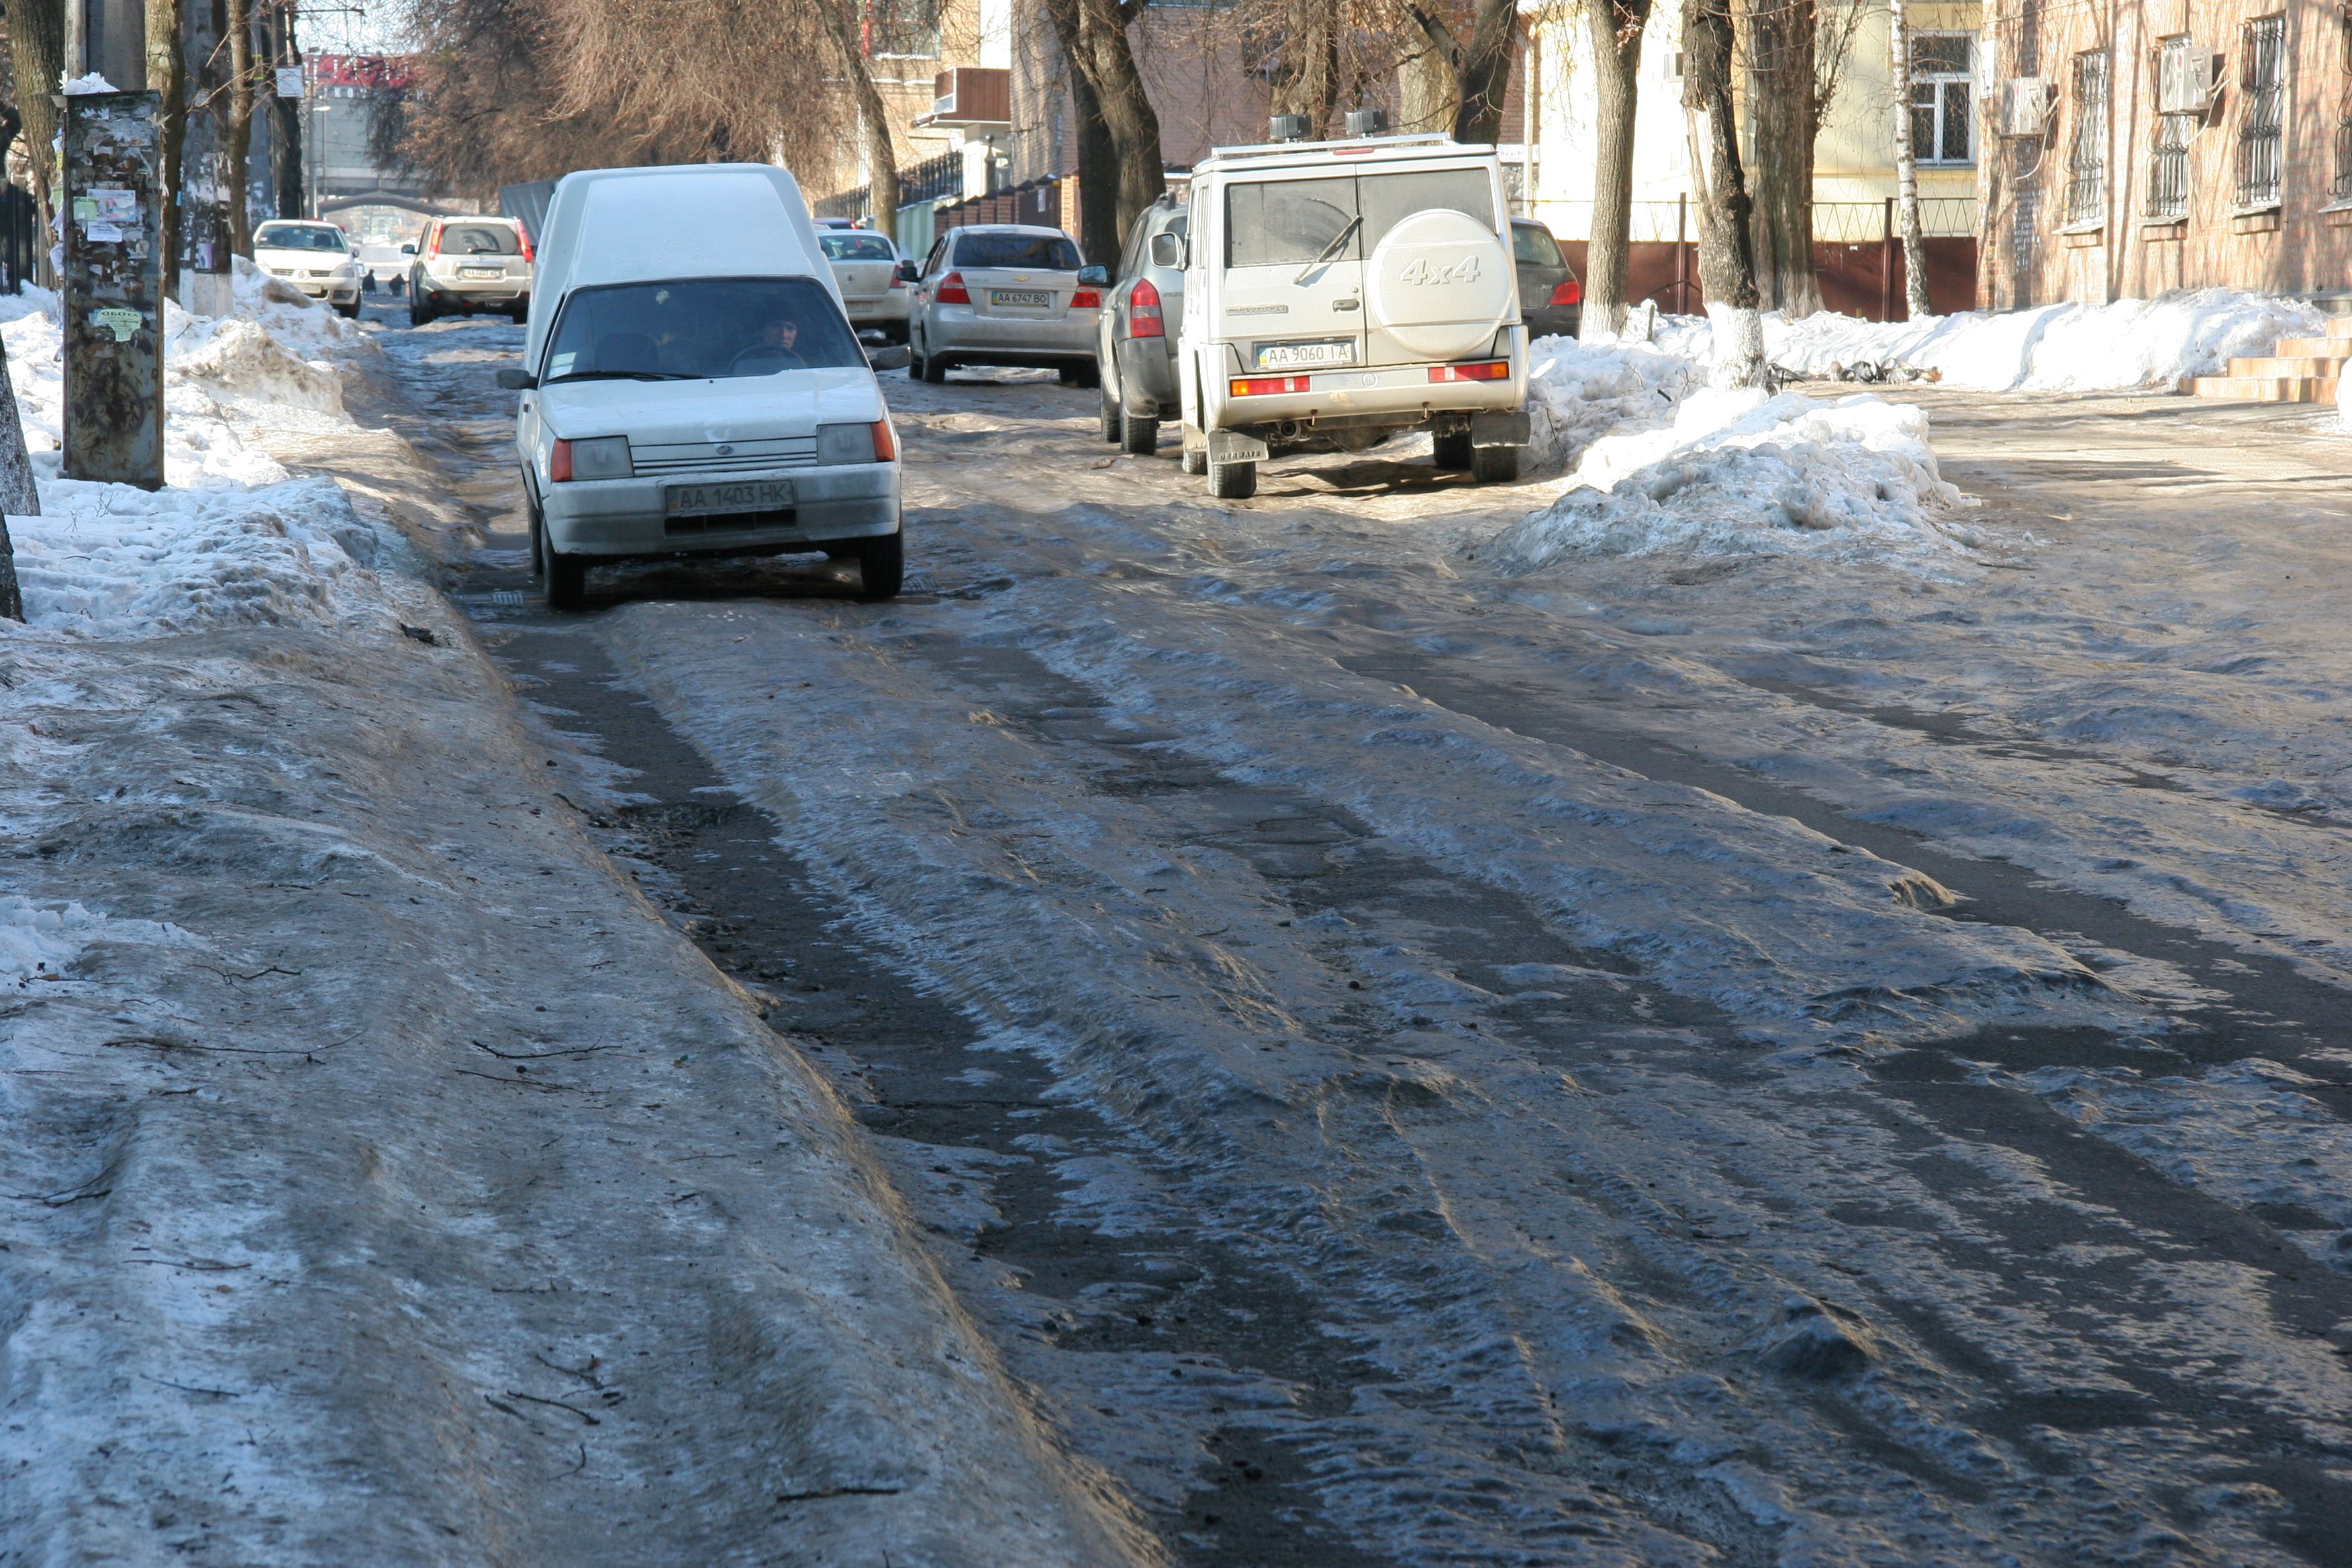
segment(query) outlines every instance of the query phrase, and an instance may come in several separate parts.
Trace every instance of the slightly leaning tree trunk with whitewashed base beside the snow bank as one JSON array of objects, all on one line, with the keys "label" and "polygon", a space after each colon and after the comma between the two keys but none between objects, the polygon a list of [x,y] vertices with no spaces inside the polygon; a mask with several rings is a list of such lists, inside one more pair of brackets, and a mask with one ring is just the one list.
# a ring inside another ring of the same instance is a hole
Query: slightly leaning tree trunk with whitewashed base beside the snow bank
[{"label": "slightly leaning tree trunk with whitewashed base beside the snow bank", "polygon": [[1757,256],[1750,237],[1755,202],[1740,167],[1731,61],[1738,38],[1733,0],[1682,0],[1682,106],[1691,120],[1691,172],[1698,195],[1698,289],[1715,322],[1715,383],[1764,386],[1764,324],[1757,320]]}]

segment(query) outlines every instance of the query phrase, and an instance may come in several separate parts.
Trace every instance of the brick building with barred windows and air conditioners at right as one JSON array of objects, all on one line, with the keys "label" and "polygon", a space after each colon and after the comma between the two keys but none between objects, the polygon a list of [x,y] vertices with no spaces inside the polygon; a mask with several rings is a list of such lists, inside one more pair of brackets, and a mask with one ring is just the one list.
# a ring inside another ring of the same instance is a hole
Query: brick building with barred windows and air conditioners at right
[{"label": "brick building with barred windows and air conditioners at right", "polygon": [[2343,0],[1987,0],[1978,303],[2352,308]]}]

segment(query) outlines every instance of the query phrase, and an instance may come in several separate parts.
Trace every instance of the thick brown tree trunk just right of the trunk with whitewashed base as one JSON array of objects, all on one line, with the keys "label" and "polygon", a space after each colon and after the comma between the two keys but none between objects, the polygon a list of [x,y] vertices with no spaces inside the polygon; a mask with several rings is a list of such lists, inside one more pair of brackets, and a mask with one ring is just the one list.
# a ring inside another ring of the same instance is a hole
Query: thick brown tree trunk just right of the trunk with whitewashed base
[{"label": "thick brown tree trunk just right of the trunk with whitewashed base", "polygon": [[1748,9],[1757,292],[1764,308],[1790,317],[1820,310],[1820,277],[1813,273],[1818,33],[1813,0],[1771,0]]}]

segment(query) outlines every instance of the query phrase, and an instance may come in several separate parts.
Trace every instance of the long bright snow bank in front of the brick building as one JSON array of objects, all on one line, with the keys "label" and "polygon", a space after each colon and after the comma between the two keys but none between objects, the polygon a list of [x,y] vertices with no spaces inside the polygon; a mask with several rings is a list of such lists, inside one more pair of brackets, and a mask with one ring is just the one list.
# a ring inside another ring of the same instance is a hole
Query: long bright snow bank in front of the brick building
[{"label": "long bright snow bank in front of the brick building", "polygon": [[1919,322],[1851,315],[1764,317],[1773,364],[1837,376],[1867,364],[1933,371],[1945,386],[2009,393],[2176,388],[2218,376],[2237,355],[2267,355],[2279,339],[2324,331],[2314,308],[2244,289],[2183,289],[2110,306],[1969,310]]}]

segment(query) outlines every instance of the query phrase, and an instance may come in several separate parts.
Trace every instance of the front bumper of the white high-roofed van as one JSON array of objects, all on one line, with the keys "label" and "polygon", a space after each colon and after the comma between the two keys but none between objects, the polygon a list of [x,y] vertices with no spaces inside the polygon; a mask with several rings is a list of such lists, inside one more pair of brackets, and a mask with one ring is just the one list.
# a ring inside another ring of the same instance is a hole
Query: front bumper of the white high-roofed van
[{"label": "front bumper of the white high-roofed van", "polygon": [[[898,531],[898,465],[779,468],[774,473],[668,473],[652,480],[539,482],[548,541],[564,555],[675,555],[680,550],[748,552],[821,545]],[[746,517],[668,517],[670,484],[741,484],[788,480],[793,510]]]}]

